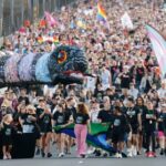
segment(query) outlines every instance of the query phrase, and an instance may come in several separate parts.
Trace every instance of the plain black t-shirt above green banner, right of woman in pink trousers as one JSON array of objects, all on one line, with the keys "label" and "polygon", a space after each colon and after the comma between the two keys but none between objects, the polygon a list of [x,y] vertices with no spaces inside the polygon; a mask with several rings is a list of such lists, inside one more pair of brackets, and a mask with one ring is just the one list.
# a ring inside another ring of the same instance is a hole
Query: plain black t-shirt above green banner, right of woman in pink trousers
[{"label": "plain black t-shirt above green banner, right of woman in pink trousers", "polygon": [[101,120],[102,123],[113,122],[113,115],[111,111],[100,111],[97,118]]}]

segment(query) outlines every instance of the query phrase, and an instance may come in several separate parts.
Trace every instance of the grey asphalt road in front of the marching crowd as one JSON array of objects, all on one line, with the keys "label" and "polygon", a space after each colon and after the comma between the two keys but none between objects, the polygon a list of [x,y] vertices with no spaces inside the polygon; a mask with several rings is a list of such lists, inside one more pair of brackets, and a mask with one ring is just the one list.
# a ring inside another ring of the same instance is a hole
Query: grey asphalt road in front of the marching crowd
[{"label": "grey asphalt road in front of the marching crowd", "polygon": [[166,158],[51,158],[0,160],[0,166],[165,166]]}]

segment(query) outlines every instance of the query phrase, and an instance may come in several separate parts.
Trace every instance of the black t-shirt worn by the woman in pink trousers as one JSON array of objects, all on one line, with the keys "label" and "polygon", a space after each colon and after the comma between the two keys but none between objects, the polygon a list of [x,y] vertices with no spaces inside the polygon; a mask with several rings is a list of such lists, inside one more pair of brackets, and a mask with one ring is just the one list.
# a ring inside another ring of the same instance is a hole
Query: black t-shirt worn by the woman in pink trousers
[{"label": "black t-shirt worn by the woman in pink trousers", "polygon": [[90,120],[89,114],[76,113],[74,117],[75,124],[87,124]]}]

